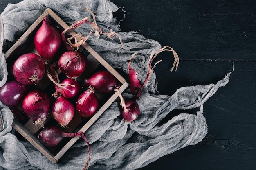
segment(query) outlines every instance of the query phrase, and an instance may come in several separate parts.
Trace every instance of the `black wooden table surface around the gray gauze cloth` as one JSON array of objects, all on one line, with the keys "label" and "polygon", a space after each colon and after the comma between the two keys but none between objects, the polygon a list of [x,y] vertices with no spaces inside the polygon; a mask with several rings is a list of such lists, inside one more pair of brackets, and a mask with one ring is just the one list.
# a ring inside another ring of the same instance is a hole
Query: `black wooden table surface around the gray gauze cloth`
[{"label": "black wooden table surface around the gray gauze cloth", "polygon": [[[141,170],[255,169],[256,2],[254,0],[111,0],[127,12],[121,31],[139,31],[175,49],[155,68],[160,94],[183,86],[216,83],[233,69],[230,82],[204,104],[208,134],[202,142],[159,158]],[[8,3],[1,0],[0,12]],[[115,14],[117,19],[121,17]],[[166,120],[179,113],[175,110]]]}]

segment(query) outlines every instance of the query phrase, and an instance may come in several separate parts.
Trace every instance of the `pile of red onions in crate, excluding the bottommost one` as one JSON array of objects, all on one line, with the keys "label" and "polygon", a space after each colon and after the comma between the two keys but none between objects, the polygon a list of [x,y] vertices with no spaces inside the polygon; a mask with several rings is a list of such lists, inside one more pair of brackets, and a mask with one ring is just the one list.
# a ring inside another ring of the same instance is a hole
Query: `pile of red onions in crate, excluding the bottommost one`
[{"label": "pile of red onions in crate, excluding the bottommost one", "polygon": [[[113,92],[119,84],[106,70],[81,81],[87,58],[78,51],[65,49],[62,43],[60,31],[52,26],[49,17],[44,17],[34,36],[38,53],[25,53],[14,61],[13,74],[9,75],[13,79],[0,88],[0,100],[19,120],[29,118],[44,128],[45,120],[51,114],[62,128],[67,128],[75,113],[79,113],[82,120],[92,117],[99,106],[97,93]],[[57,69],[62,77],[57,74]],[[37,88],[45,78],[54,83],[54,94]]]}]

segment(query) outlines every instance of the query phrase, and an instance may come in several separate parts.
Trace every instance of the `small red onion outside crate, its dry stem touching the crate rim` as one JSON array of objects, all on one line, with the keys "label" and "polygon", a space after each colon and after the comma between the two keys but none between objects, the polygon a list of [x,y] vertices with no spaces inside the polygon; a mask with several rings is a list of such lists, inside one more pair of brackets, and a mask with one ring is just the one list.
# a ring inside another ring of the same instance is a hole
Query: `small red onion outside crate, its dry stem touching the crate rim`
[{"label": "small red onion outside crate, its dry stem touching the crate rim", "polygon": [[121,114],[124,118],[124,121],[131,122],[139,116],[139,105],[136,100],[124,100],[123,96],[119,92],[119,87],[115,88],[115,91],[118,93],[121,100]]}]

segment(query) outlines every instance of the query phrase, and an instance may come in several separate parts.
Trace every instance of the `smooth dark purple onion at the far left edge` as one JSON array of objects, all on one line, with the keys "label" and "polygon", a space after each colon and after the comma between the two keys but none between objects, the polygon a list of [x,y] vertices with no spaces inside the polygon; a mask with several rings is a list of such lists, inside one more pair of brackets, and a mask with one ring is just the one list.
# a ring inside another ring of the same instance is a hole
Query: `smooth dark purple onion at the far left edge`
[{"label": "smooth dark purple onion at the far left edge", "polygon": [[7,81],[0,87],[0,100],[4,105],[17,105],[26,95],[27,86],[17,81]]}]

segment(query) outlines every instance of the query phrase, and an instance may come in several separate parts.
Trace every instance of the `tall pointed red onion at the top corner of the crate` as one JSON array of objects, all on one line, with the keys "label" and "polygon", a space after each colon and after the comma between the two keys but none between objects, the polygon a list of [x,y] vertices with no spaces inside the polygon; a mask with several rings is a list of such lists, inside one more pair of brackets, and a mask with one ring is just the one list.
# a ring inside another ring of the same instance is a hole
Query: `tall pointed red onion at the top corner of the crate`
[{"label": "tall pointed red onion at the top corner of the crate", "polygon": [[45,60],[52,59],[61,47],[61,33],[50,25],[49,17],[43,18],[42,26],[36,31],[34,44],[38,54]]}]

